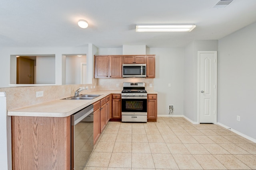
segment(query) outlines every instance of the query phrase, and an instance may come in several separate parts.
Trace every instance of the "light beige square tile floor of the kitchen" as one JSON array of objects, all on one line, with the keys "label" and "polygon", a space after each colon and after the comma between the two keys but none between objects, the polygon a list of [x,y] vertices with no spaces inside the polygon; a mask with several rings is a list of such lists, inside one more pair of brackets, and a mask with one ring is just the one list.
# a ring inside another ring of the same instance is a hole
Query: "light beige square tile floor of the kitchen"
[{"label": "light beige square tile floor of the kitchen", "polygon": [[84,170],[256,169],[256,143],[214,124],[182,117],[108,122]]}]

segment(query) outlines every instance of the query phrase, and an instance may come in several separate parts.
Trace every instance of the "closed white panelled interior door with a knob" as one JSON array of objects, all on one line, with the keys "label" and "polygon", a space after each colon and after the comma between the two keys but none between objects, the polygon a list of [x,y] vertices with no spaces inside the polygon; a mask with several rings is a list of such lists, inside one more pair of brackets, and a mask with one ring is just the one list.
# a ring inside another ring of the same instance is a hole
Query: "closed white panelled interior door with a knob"
[{"label": "closed white panelled interior door with a knob", "polygon": [[216,123],[216,51],[198,51],[199,123]]}]

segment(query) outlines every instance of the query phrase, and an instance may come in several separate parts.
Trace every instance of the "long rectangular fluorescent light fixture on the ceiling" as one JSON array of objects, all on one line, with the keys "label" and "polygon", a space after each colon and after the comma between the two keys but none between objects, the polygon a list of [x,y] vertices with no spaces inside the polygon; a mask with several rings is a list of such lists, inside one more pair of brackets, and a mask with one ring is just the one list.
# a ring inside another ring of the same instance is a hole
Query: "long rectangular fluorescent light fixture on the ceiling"
[{"label": "long rectangular fluorescent light fixture on the ceiling", "polygon": [[136,32],[190,32],[195,24],[136,25]]}]

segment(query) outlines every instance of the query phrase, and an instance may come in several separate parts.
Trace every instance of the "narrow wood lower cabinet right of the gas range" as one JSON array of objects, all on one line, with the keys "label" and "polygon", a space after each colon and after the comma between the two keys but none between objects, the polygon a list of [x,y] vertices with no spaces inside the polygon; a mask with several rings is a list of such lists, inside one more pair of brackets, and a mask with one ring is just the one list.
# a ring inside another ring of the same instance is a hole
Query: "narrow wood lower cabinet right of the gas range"
[{"label": "narrow wood lower cabinet right of the gas range", "polygon": [[148,94],[148,121],[157,120],[157,94]]}]

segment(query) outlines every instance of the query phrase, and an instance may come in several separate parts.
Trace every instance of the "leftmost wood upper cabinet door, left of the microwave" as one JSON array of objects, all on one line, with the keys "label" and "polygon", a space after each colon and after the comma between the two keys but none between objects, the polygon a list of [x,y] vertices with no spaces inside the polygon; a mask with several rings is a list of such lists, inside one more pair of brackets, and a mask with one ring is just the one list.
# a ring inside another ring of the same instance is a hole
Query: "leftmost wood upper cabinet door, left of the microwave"
[{"label": "leftmost wood upper cabinet door, left of the microwave", "polygon": [[94,56],[94,78],[108,77],[108,56]]}]

